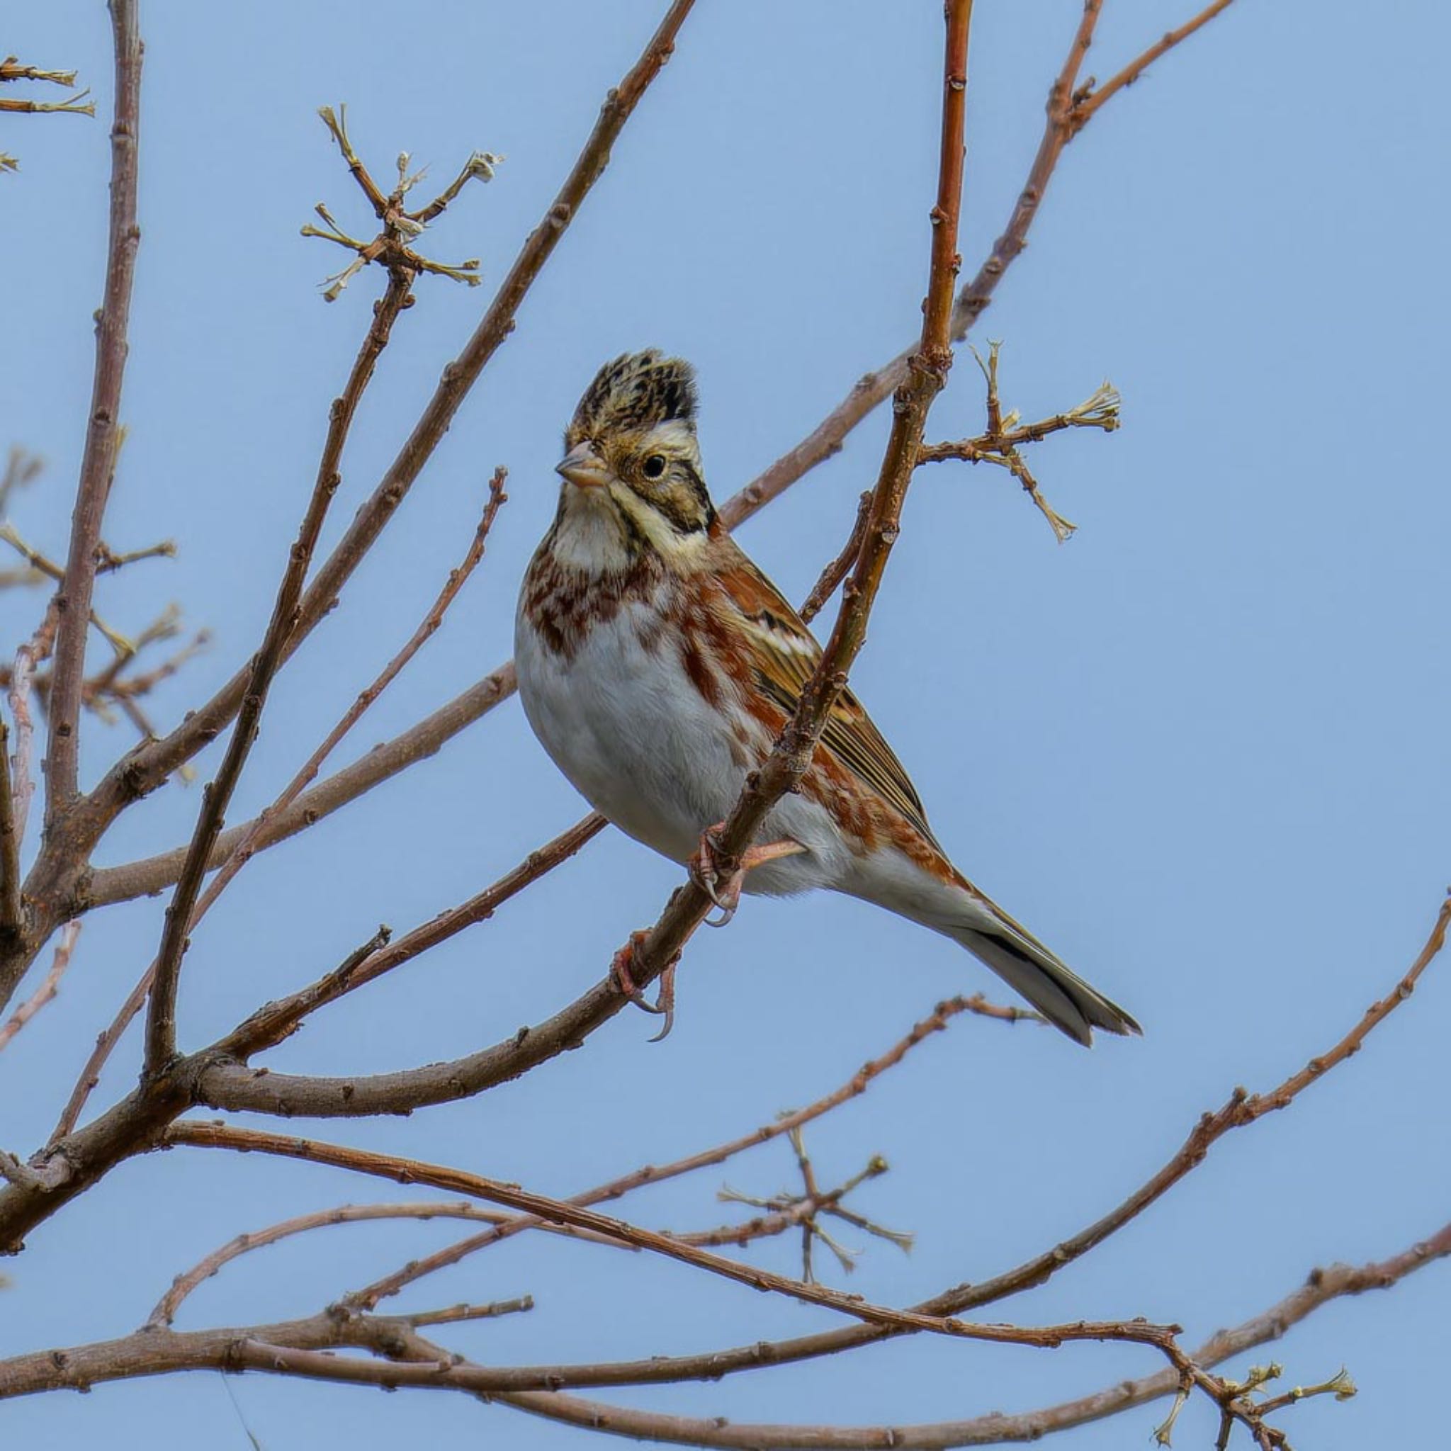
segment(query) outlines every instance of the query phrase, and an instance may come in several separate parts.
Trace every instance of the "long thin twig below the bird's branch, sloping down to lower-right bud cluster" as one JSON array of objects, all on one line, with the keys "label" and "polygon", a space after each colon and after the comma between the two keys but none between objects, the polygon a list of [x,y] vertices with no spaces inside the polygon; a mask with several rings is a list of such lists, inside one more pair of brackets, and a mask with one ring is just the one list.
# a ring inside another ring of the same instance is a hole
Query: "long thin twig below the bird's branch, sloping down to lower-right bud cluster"
[{"label": "long thin twig below the bird's branch, sloping down to lower-right bud cluster", "polygon": [[324,1143],[318,1139],[296,1139],[281,1133],[267,1133],[258,1129],[237,1129],[225,1123],[173,1123],[158,1140],[163,1148],[232,1149],[241,1154],[276,1154],[281,1158],[306,1159],[311,1164],[328,1164],[334,1168],[370,1174],[379,1178],[406,1184],[428,1184],[445,1193],[463,1193],[485,1199],[493,1204],[537,1214],[557,1225],[569,1225],[593,1235],[604,1235],[637,1249],[649,1249],[666,1259],[678,1259],[696,1270],[705,1270],[724,1280],[755,1290],[770,1290],[807,1304],[818,1304],[837,1310],[868,1325],[895,1331],[926,1331],[956,1339],[991,1341],[1004,1345],[1035,1345],[1055,1349],[1071,1341],[1126,1341],[1136,1345],[1151,1345],[1165,1354],[1174,1352],[1175,1326],[1151,1325],[1146,1320],[1078,1320],[1071,1325],[979,1325],[952,1316],[924,1315],[918,1310],[895,1310],[874,1304],[860,1296],[843,1294],[824,1286],[805,1284],[786,1275],[773,1274],[755,1265],[740,1264],[721,1255],[712,1255],[682,1239],[641,1229],[592,1209],[580,1209],[564,1200],[550,1199],[503,1184],[482,1174],[469,1174],[444,1164],[425,1164],[390,1154],[374,1154],[347,1145]]}]

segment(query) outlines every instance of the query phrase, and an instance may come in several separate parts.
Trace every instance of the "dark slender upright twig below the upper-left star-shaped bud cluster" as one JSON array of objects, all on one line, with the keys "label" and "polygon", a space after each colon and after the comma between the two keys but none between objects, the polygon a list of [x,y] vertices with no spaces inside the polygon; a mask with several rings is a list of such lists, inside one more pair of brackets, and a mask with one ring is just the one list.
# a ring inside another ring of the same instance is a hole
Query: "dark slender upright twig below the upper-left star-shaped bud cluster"
[{"label": "dark slender upright twig below the upper-left star-shaped bud cluster", "polygon": [[177,879],[171,905],[167,907],[165,927],[152,971],[151,1007],[147,1014],[145,1075],[157,1074],[176,1056],[177,981],[181,974],[181,958],[187,949],[187,933],[192,930],[192,913],[206,876],[212,849],[222,834],[226,807],[237,789],[237,782],[241,779],[252,741],[257,739],[258,721],[267,704],[267,691],[273,676],[286,660],[287,641],[297,625],[308,566],[312,563],[312,553],[316,548],[318,535],[322,533],[328,506],[342,482],[342,476],[338,473],[342,445],[347,443],[358,400],[373,377],[379,355],[387,347],[393,322],[408,305],[412,281],[414,274],[406,268],[389,273],[387,287],[374,309],[373,322],[353,363],[347,385],[329,412],[328,437],[318,463],[318,477],[312,488],[312,496],[308,501],[297,530],[297,540],[289,551],[287,566],[277,586],[271,620],[252,659],[247,692],[237,712],[232,737],[226,743],[226,755],[222,757],[216,778],[202,792],[202,810],[197,814],[192,846],[187,849],[187,859]]}]

